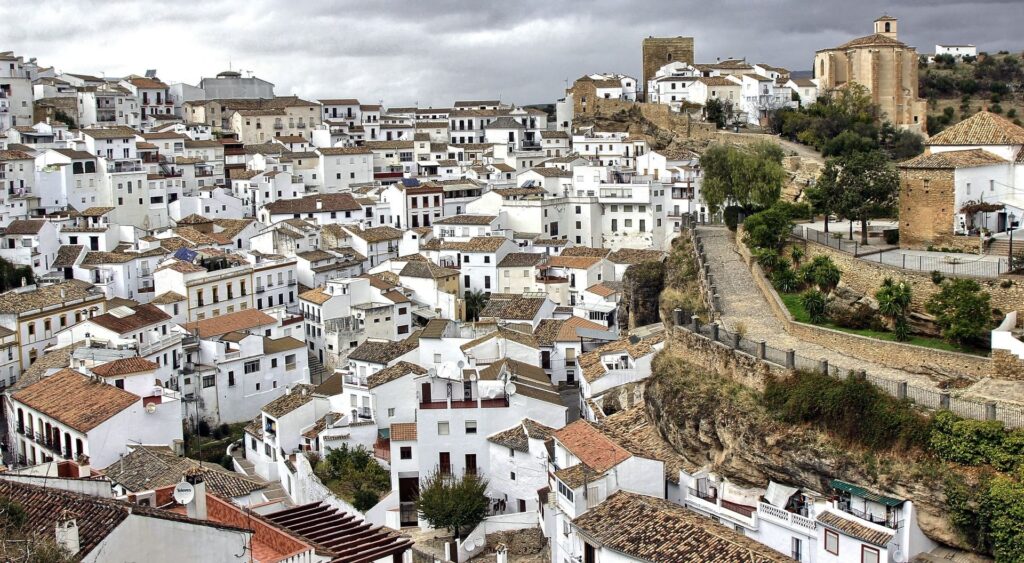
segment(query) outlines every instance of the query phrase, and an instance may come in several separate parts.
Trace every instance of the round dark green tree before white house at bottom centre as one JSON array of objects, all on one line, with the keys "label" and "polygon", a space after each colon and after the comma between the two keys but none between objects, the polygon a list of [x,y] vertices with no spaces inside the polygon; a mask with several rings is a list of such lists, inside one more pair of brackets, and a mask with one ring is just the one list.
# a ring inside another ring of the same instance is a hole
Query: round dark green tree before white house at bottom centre
[{"label": "round dark green tree before white house at bottom centre", "polygon": [[487,480],[477,475],[454,477],[435,471],[423,480],[416,510],[435,528],[465,537],[487,515]]}]

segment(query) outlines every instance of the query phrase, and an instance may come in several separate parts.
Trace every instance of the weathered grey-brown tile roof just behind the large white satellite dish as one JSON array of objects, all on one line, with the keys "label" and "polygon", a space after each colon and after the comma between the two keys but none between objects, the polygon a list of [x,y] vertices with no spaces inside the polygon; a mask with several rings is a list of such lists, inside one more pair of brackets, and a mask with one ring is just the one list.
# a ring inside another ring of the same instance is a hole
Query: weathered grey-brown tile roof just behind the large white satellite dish
[{"label": "weathered grey-brown tile roof just behind the large white satellite dish", "polygon": [[266,488],[266,483],[228,471],[216,464],[179,458],[167,446],[134,446],[119,462],[102,470],[115,483],[131,492],[173,487],[186,471],[200,471],[207,490],[228,499]]}]

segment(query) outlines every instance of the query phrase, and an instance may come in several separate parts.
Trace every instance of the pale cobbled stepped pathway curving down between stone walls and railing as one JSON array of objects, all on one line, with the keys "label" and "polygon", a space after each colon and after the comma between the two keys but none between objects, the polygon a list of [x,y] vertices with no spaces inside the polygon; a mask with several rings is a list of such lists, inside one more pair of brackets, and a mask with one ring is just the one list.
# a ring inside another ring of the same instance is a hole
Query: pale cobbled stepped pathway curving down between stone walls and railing
[{"label": "pale cobbled stepped pathway curving down between stone walls and railing", "polygon": [[734,235],[724,227],[698,227],[697,235],[703,241],[708,266],[715,276],[722,304],[722,322],[729,331],[742,326],[746,338],[764,340],[769,346],[783,350],[793,348],[806,358],[827,358],[830,365],[842,370],[864,370],[886,379],[906,380],[919,387],[935,387],[926,376],[865,361],[790,335],[754,284],[754,274],[736,250]]}]

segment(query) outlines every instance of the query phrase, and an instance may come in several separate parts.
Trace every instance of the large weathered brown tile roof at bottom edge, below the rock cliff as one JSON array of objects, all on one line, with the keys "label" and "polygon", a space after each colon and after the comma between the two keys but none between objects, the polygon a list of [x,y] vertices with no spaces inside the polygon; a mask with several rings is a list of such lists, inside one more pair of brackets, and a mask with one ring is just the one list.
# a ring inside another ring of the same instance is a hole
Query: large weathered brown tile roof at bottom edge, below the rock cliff
[{"label": "large weathered brown tile roof at bottom edge, below the rock cliff", "polygon": [[792,561],[685,507],[618,491],[577,518],[586,537],[639,561],[656,563],[775,563]]}]

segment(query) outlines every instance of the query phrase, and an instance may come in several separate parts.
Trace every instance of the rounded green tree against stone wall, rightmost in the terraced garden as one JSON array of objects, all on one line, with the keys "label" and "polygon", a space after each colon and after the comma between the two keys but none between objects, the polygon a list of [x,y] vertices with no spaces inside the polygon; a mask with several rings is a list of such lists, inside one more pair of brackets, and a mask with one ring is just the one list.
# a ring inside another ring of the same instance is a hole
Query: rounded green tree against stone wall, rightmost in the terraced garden
[{"label": "rounded green tree against stone wall, rightmost in the terraced garden", "polygon": [[973,279],[947,279],[933,295],[925,310],[935,316],[942,337],[949,342],[968,344],[985,337],[992,323],[990,296]]}]

